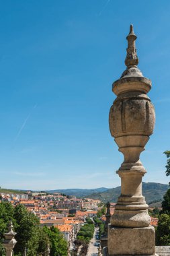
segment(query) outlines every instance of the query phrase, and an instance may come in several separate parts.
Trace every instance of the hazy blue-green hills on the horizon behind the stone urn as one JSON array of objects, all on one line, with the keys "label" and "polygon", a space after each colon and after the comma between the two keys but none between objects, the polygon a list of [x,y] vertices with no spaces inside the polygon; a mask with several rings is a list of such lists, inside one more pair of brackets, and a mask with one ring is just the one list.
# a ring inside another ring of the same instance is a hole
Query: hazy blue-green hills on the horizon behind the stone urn
[{"label": "hazy blue-green hills on the horizon behind the stone urn", "polygon": [[[142,183],[142,195],[144,195],[146,202],[162,201],[163,195],[169,188],[169,185],[161,183]],[[99,199],[103,202],[116,202],[120,195],[121,187],[107,189],[101,187],[99,189],[56,189],[46,191],[48,193],[64,193],[65,195],[75,195],[76,197],[89,197]]]}]

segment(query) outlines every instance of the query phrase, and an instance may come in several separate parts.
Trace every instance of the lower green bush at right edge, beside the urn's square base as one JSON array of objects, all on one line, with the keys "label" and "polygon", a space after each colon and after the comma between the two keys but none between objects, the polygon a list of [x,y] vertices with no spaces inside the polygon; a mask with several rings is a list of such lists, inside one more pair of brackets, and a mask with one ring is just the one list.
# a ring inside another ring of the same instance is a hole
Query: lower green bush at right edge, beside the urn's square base
[{"label": "lower green bush at right edge, beside the urn's square base", "polygon": [[156,229],[156,245],[170,245],[170,216],[161,214]]}]

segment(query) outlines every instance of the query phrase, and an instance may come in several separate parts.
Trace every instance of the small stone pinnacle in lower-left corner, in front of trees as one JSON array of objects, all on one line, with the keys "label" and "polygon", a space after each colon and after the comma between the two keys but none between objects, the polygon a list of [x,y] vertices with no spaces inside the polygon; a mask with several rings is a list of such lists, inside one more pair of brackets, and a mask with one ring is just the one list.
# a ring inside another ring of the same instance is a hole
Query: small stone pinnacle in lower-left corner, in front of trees
[{"label": "small stone pinnacle in lower-left corner, in front of trees", "polygon": [[8,232],[3,234],[5,236],[5,241],[3,243],[3,247],[5,247],[6,250],[6,256],[12,256],[13,255],[13,248],[15,247],[15,244],[17,241],[15,240],[15,232],[13,232],[13,224],[10,221],[8,224]]}]

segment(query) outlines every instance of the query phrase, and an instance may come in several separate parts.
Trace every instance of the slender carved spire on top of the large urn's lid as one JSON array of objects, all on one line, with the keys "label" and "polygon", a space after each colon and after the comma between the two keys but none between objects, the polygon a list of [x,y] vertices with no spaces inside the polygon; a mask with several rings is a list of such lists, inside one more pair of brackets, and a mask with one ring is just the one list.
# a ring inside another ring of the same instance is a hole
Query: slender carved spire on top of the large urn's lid
[{"label": "slender carved spire on top of the large urn's lid", "polygon": [[125,65],[127,67],[132,67],[138,65],[138,56],[136,53],[135,40],[137,36],[134,34],[133,25],[130,25],[130,32],[126,39],[128,40],[128,48],[126,49],[127,55],[125,59]]}]

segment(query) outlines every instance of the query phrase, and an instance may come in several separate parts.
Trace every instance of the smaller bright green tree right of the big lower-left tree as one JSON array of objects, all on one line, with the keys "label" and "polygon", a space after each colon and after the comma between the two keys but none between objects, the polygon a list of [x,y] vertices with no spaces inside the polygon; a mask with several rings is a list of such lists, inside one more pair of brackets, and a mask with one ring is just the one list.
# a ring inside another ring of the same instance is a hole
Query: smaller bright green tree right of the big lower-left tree
[{"label": "smaller bright green tree right of the big lower-left tree", "polygon": [[50,239],[50,256],[67,256],[67,241],[63,238],[58,228],[51,226],[50,228],[44,226],[43,231]]}]

